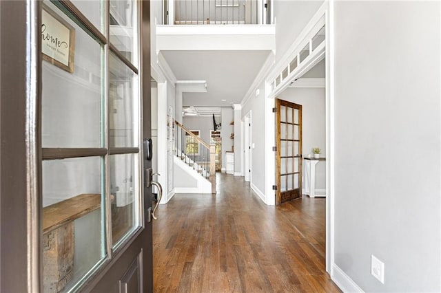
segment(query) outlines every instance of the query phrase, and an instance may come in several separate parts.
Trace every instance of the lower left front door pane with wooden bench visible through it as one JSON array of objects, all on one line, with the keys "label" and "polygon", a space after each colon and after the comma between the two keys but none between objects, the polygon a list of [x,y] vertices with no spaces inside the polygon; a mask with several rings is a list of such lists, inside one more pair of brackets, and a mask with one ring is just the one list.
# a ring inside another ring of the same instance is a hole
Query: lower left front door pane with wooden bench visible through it
[{"label": "lower left front door pane with wooden bench visible through it", "polygon": [[101,157],[42,162],[43,292],[69,290],[106,255],[103,169]]}]

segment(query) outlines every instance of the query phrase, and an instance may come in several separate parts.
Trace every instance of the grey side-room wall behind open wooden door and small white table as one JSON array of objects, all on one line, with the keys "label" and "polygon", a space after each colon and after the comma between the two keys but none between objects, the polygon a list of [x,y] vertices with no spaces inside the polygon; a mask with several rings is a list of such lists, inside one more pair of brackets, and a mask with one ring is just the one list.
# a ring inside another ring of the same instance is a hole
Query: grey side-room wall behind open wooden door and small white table
[{"label": "grey side-room wall behind open wooden door and small white table", "polygon": [[[325,89],[288,88],[278,97],[302,105],[302,153],[307,156],[313,147],[319,147],[320,156],[326,153]],[[326,164],[316,165],[316,188],[326,187]],[[305,164],[303,164],[305,180]],[[303,184],[305,186],[305,182]]]}]

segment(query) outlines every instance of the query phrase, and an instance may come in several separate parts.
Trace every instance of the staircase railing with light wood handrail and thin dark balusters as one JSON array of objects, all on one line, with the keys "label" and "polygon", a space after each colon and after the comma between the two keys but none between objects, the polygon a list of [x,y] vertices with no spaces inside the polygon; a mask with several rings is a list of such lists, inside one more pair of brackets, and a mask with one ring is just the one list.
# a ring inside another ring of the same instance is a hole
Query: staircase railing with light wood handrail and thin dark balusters
[{"label": "staircase railing with light wood handrail and thin dark balusters", "polygon": [[204,142],[198,135],[175,121],[174,154],[205,177],[216,193],[216,144]]}]

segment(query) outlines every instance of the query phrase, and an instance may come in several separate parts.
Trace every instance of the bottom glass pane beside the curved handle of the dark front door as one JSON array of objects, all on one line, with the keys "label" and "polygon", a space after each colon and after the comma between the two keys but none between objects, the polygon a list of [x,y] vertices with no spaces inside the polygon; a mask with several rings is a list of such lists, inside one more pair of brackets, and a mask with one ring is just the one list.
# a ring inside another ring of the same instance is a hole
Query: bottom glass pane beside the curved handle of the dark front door
[{"label": "bottom glass pane beside the curved handle of the dark front door", "polygon": [[139,226],[137,154],[110,155],[110,193],[112,198],[112,241],[115,244]]}]

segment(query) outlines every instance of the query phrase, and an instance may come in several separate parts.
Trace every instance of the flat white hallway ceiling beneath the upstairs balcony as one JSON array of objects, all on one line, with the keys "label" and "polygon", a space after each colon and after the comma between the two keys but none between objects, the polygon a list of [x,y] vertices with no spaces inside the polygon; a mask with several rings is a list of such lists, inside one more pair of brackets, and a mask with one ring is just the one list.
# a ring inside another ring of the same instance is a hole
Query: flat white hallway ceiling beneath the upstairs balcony
[{"label": "flat white hallway ceiling beneath the upstairs balcony", "polygon": [[[177,80],[206,80],[206,93],[183,93],[183,106],[239,104],[271,51],[161,51]],[[223,101],[225,100],[225,101]]]}]

